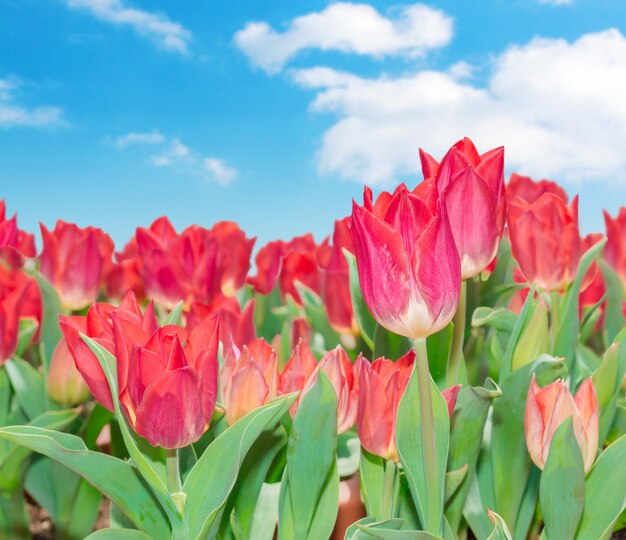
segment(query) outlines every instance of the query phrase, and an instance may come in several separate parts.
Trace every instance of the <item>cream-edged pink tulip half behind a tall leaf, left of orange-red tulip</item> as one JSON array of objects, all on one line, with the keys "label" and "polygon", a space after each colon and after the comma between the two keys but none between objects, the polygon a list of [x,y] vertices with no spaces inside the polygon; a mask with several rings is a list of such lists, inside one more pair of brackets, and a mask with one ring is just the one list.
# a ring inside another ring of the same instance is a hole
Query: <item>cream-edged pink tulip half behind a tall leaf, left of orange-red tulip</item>
[{"label": "cream-edged pink tulip half behind a tall leaf, left of orange-red tulip", "polygon": [[[356,367],[350,362],[346,351],[338,345],[323,356],[318,364],[318,369],[326,374],[335,389],[337,394],[337,433],[345,433],[356,422],[359,399]],[[310,384],[312,383],[313,380]]]}]

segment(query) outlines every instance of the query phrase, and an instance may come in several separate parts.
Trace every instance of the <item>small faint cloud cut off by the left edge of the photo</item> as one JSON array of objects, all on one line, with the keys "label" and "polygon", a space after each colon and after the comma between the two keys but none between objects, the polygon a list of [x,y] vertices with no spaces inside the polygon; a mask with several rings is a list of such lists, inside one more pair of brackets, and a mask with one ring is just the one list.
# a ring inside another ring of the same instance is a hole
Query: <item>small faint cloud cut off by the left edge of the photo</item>
[{"label": "small faint cloud cut off by the left edge of the photo", "polygon": [[64,124],[63,110],[49,105],[28,107],[15,102],[17,80],[0,79],[0,127],[50,127]]}]

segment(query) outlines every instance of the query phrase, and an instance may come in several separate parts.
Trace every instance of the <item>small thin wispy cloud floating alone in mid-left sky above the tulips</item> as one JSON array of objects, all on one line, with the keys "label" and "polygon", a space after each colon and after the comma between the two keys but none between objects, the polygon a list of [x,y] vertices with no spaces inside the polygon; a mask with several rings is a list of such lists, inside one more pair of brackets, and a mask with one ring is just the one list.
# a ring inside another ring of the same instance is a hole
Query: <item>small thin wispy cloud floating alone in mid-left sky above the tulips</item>
[{"label": "small thin wispy cloud floating alone in mid-left sky above the tulips", "polygon": [[196,176],[202,181],[212,180],[222,185],[228,185],[239,176],[237,169],[230,166],[225,160],[203,156],[184,144],[179,138],[168,138],[158,129],[109,137],[107,141],[118,150],[124,150],[131,146],[149,146],[153,149],[153,152],[148,156],[152,166],[169,168],[176,173]]}]

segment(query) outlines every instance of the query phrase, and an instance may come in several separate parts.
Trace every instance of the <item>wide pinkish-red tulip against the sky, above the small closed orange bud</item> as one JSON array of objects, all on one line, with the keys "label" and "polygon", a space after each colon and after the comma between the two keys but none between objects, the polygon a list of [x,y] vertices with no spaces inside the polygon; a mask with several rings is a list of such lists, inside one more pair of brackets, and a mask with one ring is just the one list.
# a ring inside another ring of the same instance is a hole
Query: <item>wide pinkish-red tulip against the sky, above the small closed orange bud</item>
[{"label": "wide pinkish-red tulip against the sky, above the small closed orange bud", "polygon": [[57,221],[53,231],[41,224],[41,273],[54,285],[61,304],[79,310],[95,302],[111,268],[113,241],[95,227],[81,229]]}]

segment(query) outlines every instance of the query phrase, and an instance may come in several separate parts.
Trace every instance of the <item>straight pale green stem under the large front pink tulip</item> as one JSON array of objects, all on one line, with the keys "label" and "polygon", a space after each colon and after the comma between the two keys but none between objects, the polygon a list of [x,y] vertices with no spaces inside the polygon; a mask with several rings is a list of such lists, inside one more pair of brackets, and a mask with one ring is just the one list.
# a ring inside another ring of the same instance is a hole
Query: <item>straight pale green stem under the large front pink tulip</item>
[{"label": "straight pale green stem under the large front pink tulip", "polygon": [[[435,414],[433,412],[430,371],[428,370],[428,349],[426,339],[415,340],[417,355],[417,385],[419,389],[420,410],[422,416],[422,445],[424,448],[424,474],[427,486],[439,483],[437,447],[435,441]],[[427,517],[427,516],[425,516]],[[441,534],[441,523],[423,523],[426,531]]]}]

